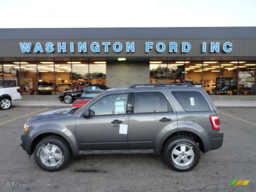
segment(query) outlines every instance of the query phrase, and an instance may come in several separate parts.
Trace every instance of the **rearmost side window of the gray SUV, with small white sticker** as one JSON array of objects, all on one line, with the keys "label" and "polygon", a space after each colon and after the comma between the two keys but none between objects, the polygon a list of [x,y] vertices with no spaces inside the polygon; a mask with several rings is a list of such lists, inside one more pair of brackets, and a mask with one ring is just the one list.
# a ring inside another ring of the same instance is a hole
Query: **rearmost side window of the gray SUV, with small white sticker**
[{"label": "rearmost side window of the gray SUV, with small white sticker", "polygon": [[210,111],[205,98],[198,91],[172,91],[172,94],[187,112]]}]

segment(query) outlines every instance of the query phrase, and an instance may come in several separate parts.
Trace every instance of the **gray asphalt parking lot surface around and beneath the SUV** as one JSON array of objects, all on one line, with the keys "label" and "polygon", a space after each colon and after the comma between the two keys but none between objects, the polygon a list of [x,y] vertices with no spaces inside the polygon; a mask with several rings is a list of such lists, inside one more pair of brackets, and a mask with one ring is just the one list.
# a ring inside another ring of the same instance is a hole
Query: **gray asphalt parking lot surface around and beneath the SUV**
[{"label": "gray asphalt parking lot surface around and beneath the SUV", "polygon": [[218,107],[223,146],[201,154],[190,172],[168,169],[157,155],[88,155],[45,172],[20,147],[20,135],[30,116],[62,107],[0,111],[0,191],[256,191],[256,107]]}]

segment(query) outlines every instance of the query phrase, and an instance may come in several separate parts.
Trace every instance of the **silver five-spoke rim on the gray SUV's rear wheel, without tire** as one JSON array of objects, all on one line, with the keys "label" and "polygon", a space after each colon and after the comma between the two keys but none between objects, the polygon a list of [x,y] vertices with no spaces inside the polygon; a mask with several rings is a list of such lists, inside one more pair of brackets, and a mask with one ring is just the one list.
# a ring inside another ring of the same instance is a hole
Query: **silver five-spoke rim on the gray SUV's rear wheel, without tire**
[{"label": "silver five-spoke rim on the gray SUV's rear wheel, without tire", "polygon": [[188,166],[195,157],[193,148],[186,144],[177,145],[172,151],[173,162],[181,167]]}]

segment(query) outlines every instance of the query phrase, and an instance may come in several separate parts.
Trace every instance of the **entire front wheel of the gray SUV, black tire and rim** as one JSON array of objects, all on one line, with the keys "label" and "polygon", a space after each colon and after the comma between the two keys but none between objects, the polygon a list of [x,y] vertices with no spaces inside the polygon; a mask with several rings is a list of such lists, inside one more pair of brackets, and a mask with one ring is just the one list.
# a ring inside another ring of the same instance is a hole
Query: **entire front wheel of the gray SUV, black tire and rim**
[{"label": "entire front wheel of the gray SUV, black tire and rim", "polygon": [[[47,152],[48,151],[48,152]],[[36,164],[46,171],[59,171],[70,161],[71,150],[68,143],[61,137],[49,136],[43,138],[35,147]]]}]

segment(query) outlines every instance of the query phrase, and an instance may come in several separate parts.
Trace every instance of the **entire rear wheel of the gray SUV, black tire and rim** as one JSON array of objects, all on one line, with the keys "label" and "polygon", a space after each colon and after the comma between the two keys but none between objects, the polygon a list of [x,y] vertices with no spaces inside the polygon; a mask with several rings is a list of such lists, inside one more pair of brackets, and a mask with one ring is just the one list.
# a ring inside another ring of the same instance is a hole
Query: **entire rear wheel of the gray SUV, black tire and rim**
[{"label": "entire rear wheel of the gray SUV, black tire and rim", "polygon": [[197,166],[201,152],[196,142],[186,136],[169,140],[163,151],[164,162],[178,172],[186,172]]}]

